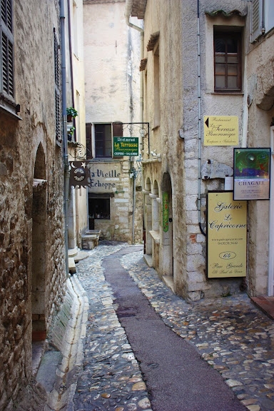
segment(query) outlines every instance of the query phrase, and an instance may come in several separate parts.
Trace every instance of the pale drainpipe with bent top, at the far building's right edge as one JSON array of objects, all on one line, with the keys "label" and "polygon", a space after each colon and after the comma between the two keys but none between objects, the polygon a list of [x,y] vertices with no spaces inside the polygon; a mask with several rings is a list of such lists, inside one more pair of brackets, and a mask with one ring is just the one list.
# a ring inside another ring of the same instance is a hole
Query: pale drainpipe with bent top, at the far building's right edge
[{"label": "pale drainpipe with bent top, at the far building's right edge", "polygon": [[[125,19],[126,24],[131,27],[131,29],[138,30],[141,34],[140,39],[140,53],[141,59],[143,58],[143,29],[135,24],[132,24],[129,21],[131,16],[133,0],[126,0],[125,6]],[[143,73],[140,76],[140,122],[143,123]],[[132,243],[135,243],[135,234],[134,234],[134,218],[135,218],[135,201],[136,201],[136,173],[133,172],[133,215],[132,215]]]}]

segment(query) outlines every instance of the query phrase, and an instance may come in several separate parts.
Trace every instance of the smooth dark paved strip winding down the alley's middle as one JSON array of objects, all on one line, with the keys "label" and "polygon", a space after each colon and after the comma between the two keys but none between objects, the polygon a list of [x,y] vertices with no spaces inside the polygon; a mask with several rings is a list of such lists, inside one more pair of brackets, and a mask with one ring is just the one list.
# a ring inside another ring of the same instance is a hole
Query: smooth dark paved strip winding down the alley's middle
[{"label": "smooth dark paved strip winding down the alley's middle", "polygon": [[245,410],[196,348],[173,333],[156,314],[121,266],[119,258],[126,253],[132,253],[132,248],[104,258],[104,274],[113,290],[119,321],[141,367],[153,411]]}]

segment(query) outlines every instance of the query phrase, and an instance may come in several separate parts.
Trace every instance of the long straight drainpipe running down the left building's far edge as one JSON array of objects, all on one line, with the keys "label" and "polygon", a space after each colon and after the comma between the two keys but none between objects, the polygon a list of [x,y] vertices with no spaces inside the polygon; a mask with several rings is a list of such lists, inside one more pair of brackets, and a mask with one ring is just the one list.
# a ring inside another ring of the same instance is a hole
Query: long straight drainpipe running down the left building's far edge
[{"label": "long straight drainpipe running down the left building's far edge", "polygon": [[62,116],[63,116],[63,145],[64,145],[64,214],[65,214],[65,258],[66,276],[68,277],[68,135],[66,131],[66,44],[65,44],[65,7],[60,0],[60,29],[61,29],[61,78],[62,78]]}]

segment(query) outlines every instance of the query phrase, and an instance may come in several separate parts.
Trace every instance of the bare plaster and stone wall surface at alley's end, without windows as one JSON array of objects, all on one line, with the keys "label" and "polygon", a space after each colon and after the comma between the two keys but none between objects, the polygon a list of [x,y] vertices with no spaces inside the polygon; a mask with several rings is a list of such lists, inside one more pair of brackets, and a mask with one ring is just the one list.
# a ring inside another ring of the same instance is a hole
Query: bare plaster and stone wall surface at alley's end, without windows
[{"label": "bare plaster and stone wall surface at alley's end, without windows", "polygon": [[[86,123],[139,122],[140,113],[140,34],[126,25],[125,1],[83,2],[84,64],[86,89]],[[133,131],[134,132],[134,131]],[[131,136],[130,129],[123,136]],[[133,134],[132,136],[135,136]],[[95,146],[93,142],[93,155]],[[97,164],[100,161],[96,162]],[[93,168],[96,163],[91,165]],[[111,171],[111,161],[101,162]],[[117,165],[117,160],[113,162]],[[111,220],[95,220],[103,238],[132,241],[133,180],[127,157],[119,161],[121,176],[116,181],[118,192],[111,198]],[[98,187],[89,192],[98,193]],[[112,193],[110,188],[106,193]],[[136,201],[135,241],[142,240],[142,207]]]}]

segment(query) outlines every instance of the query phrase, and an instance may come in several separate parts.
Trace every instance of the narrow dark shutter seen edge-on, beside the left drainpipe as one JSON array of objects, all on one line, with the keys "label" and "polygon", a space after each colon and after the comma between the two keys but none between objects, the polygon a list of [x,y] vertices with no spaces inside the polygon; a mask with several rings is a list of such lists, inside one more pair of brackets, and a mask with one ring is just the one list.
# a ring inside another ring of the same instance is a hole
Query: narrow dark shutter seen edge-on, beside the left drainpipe
[{"label": "narrow dark shutter seen edge-on, beside the left drainpipe", "polygon": [[56,143],[61,143],[61,81],[60,81],[60,59],[59,44],[54,29],[54,93],[55,93],[55,124],[56,124]]}]

